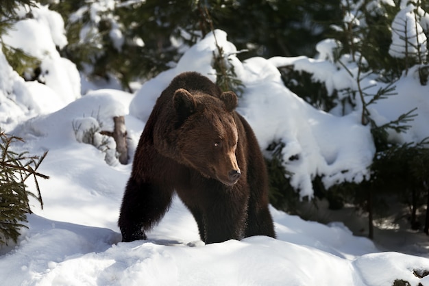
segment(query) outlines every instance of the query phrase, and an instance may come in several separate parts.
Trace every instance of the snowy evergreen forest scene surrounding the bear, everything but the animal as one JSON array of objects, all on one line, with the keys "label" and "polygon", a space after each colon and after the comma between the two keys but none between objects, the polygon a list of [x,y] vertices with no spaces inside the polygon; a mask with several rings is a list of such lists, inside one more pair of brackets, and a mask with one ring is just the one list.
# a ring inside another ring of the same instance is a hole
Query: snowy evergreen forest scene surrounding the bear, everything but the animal
[{"label": "snowy evergreen forest scene surrounding the bear, everything but the animal", "polygon": [[[5,285],[429,285],[429,1],[2,0]],[[175,198],[121,242],[156,99],[238,95],[277,239],[204,245]],[[121,139],[122,138],[122,139]]]}]

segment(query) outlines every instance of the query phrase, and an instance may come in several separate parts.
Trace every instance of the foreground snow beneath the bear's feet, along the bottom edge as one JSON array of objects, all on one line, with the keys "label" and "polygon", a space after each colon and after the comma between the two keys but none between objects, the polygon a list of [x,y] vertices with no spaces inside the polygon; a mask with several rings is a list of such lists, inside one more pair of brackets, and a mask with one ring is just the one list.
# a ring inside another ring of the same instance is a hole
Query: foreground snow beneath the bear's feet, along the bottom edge
[{"label": "foreground snow beneath the bear's feet, along the bottom edge", "polygon": [[429,259],[378,252],[344,227],[271,211],[278,239],[207,246],[195,242],[196,225],[179,200],[146,242],[121,243],[110,229],[31,215],[0,271],[5,285],[428,285],[413,271],[427,270]]}]

